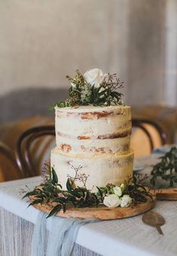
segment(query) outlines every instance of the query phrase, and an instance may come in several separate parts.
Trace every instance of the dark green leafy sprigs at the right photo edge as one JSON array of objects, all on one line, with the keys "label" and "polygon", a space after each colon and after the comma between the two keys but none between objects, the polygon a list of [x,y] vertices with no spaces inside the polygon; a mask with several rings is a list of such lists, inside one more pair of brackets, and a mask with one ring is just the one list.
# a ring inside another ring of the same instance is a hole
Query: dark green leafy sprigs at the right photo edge
[{"label": "dark green leafy sprigs at the right photo edge", "polygon": [[157,186],[157,178],[169,182],[168,187],[177,184],[177,147],[172,147],[169,152],[160,157],[160,162],[154,165],[151,171],[151,184]]}]

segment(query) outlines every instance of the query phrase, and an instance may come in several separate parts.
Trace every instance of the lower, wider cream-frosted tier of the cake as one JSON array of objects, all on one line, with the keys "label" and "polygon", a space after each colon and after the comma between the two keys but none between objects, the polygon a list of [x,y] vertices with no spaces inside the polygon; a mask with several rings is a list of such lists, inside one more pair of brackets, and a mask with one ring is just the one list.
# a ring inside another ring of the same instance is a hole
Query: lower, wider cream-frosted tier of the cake
[{"label": "lower, wider cream-frosted tier of the cake", "polygon": [[55,147],[51,151],[51,166],[56,171],[59,184],[66,189],[66,181],[75,179],[75,186],[96,191],[106,184],[119,186],[133,175],[133,151],[125,155],[70,156]]}]

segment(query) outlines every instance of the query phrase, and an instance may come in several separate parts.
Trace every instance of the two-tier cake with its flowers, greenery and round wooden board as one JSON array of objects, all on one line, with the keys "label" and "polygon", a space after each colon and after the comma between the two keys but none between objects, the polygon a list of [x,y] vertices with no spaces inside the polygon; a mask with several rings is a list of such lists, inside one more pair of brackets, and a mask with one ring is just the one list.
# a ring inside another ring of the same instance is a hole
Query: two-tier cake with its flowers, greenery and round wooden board
[{"label": "two-tier cake with its flowers, greenery and round wooden board", "polygon": [[56,147],[45,165],[47,175],[24,197],[47,217],[112,220],[148,211],[153,195],[133,177],[131,108],[121,100],[123,82],[101,69],[84,75],[76,70],[74,79],[66,78],[69,98],[50,108]]}]

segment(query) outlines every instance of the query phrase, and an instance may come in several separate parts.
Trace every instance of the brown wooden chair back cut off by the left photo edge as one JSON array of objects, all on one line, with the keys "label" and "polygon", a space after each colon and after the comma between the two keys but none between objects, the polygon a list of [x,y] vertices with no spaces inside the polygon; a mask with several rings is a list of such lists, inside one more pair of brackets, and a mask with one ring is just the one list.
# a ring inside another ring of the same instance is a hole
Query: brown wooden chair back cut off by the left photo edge
[{"label": "brown wooden chair back cut off by the left photo edge", "polygon": [[23,177],[23,174],[18,168],[14,150],[2,141],[0,141],[0,162],[0,181],[9,180],[9,174],[13,175],[16,179]]}]

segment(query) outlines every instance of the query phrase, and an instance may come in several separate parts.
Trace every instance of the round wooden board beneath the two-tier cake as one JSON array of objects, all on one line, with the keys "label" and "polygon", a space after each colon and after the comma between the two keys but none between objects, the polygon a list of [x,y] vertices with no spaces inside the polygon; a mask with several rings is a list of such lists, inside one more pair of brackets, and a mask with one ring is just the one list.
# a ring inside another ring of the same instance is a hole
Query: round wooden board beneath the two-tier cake
[{"label": "round wooden board beneath the two-tier cake", "polygon": [[[30,198],[32,200],[32,197]],[[122,219],[124,217],[133,217],[139,214],[142,214],[145,211],[151,210],[154,208],[156,199],[148,199],[147,202],[139,202],[133,207],[117,207],[117,208],[108,208],[102,205],[90,208],[67,208],[66,212],[63,210],[59,211],[56,216],[60,217],[77,217],[77,218],[98,218],[102,221],[106,220],[116,220]],[[36,204],[33,205],[39,211],[43,211],[47,214],[50,213],[52,206],[50,204]]]}]

